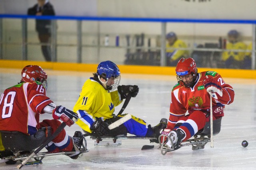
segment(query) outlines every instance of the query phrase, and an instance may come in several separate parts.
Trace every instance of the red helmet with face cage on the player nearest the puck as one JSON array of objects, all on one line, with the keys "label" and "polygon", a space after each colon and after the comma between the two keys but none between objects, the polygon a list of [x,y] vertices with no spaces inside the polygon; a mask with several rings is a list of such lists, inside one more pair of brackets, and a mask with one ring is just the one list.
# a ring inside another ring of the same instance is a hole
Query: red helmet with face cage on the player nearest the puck
[{"label": "red helmet with face cage on the player nearest the puck", "polygon": [[[194,85],[194,82],[196,80],[196,74],[197,74],[197,68],[196,68],[196,62],[192,58],[184,59],[181,58],[178,62],[176,68],[175,68],[176,74],[177,74],[177,80],[180,83],[180,85],[184,87],[190,87]],[[190,81],[190,83],[184,83],[180,76],[186,76],[192,74],[193,80]]]}]

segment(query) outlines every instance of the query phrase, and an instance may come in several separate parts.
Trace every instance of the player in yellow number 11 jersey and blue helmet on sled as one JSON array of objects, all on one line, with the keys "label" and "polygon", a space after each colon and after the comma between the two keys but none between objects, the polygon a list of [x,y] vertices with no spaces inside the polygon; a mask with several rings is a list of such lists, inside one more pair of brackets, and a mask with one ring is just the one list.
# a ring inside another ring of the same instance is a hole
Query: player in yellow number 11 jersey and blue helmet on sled
[{"label": "player in yellow number 11 jersey and blue helmet on sled", "polygon": [[[151,127],[144,120],[132,116],[119,127],[108,129],[108,125],[124,117],[124,115],[113,115],[114,107],[121,104],[128,94],[136,97],[139,91],[136,85],[118,86],[119,82],[118,66],[111,61],[101,62],[97,67],[97,73],[94,73],[93,77],[84,83],[74,106],[74,112],[79,117],[76,123],[94,137],[126,135],[127,133],[138,137],[158,137],[160,130],[166,127],[167,119],[161,119],[158,125]],[[116,88],[118,90],[113,91]]]}]

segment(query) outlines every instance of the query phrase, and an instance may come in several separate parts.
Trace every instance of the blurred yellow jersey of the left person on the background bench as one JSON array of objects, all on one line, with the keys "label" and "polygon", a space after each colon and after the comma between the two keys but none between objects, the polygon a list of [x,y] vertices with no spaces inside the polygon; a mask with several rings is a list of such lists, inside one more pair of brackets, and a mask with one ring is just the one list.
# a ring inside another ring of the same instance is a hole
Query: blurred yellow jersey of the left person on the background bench
[{"label": "blurred yellow jersey of the left person on the background bench", "polygon": [[[177,48],[177,49],[168,49],[168,48]],[[169,43],[166,44],[166,53],[172,53],[170,57],[171,60],[177,60],[181,57],[188,57],[188,51],[186,50],[179,50],[178,48],[187,48],[186,43],[184,41],[177,39],[173,45]]]}]

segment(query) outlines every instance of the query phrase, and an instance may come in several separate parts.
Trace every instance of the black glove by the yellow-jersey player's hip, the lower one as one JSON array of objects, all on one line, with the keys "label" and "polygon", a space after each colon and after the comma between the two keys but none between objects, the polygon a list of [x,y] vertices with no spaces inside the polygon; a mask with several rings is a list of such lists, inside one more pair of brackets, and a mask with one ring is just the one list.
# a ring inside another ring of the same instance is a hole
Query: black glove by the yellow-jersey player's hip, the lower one
[{"label": "black glove by the yellow-jersey player's hip, the lower one", "polygon": [[101,137],[101,136],[106,136],[109,133],[109,129],[108,129],[108,124],[104,121],[102,121],[102,119],[95,117],[96,121],[94,121],[94,123],[92,124],[92,126],[90,127],[91,131],[92,131],[92,136],[93,137]]}]

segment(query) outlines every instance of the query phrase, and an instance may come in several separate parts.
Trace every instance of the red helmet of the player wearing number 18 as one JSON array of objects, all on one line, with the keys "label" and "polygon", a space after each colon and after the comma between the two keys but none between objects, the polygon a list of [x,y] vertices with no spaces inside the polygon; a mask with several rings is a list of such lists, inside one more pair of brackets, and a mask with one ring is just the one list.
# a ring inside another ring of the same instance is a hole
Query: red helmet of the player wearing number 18
[{"label": "red helmet of the player wearing number 18", "polygon": [[47,74],[37,65],[27,65],[21,71],[21,82],[38,81],[41,82],[45,89],[47,89]]}]

